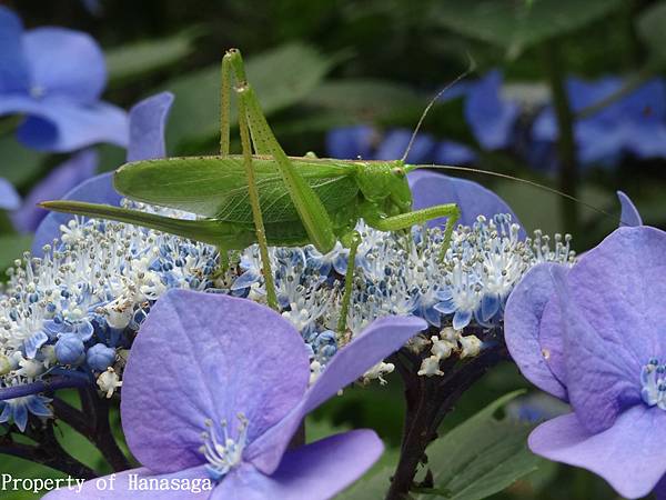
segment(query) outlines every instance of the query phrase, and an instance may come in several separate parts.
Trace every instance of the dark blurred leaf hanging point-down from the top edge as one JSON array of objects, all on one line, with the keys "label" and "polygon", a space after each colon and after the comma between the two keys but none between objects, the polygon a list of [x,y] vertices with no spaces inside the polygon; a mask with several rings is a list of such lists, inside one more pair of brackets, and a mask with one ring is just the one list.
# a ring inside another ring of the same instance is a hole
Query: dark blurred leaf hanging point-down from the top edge
[{"label": "dark blurred leaf hanging point-down from the top edge", "polygon": [[478,0],[437,3],[436,22],[452,31],[501,47],[515,58],[526,48],[588,24],[620,0]]}]

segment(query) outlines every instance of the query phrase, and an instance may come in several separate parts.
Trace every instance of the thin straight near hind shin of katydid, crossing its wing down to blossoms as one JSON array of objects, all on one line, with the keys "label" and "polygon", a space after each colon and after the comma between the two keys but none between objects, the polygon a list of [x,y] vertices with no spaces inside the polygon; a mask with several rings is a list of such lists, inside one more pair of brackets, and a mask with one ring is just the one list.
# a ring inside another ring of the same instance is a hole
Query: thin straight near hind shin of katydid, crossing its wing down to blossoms
[{"label": "thin straight near hind shin of katydid, crossing its wing down to blossoms", "polygon": [[250,129],[248,127],[248,116],[245,104],[239,100],[239,129],[241,131],[241,144],[243,148],[243,164],[245,167],[245,177],[248,178],[248,196],[252,208],[252,219],[256,230],[256,242],[261,254],[262,270],[266,286],[266,300],[269,307],[278,310],[278,294],[275,293],[275,283],[271,270],[271,259],[269,256],[269,244],[266,242],[266,231],[264,229],[263,217],[261,214],[261,204],[259,201],[259,189],[254,179],[254,168],[252,166],[252,143],[250,140]]}]

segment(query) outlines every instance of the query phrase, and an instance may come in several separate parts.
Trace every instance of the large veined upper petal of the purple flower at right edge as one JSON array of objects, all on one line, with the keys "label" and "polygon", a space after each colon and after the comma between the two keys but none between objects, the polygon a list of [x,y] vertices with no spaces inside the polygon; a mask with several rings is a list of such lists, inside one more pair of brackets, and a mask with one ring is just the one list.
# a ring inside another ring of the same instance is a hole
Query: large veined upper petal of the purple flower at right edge
[{"label": "large veined upper petal of the purple flower at right edge", "polygon": [[591,432],[640,403],[640,371],[664,354],[665,252],[663,231],[619,228],[585,253],[568,279],[553,269],[566,319],[567,391]]}]

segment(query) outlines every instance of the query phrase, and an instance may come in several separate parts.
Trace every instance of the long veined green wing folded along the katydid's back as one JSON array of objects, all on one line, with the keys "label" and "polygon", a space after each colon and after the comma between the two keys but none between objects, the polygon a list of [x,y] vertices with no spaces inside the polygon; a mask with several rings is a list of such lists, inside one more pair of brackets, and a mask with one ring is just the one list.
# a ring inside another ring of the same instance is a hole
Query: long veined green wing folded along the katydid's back
[{"label": "long veined green wing folded along the katydid's back", "polygon": [[[254,158],[265,223],[299,221],[275,163]],[[359,188],[349,162],[293,159],[329,213],[347,207]],[[170,207],[228,222],[248,223],[252,211],[242,157],[168,158],[128,163],[115,172],[115,189],[132,200]]]}]

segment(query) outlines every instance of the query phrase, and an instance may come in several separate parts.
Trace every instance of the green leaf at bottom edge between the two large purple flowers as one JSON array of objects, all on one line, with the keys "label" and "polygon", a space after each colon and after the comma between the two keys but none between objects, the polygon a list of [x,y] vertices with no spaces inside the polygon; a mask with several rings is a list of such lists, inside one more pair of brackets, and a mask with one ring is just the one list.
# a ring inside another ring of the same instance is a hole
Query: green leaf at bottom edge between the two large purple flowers
[{"label": "green leaf at bottom edge between the two large purple flowers", "polygon": [[[427,449],[435,488],[432,493],[451,500],[478,500],[504,490],[535,471],[543,459],[527,449],[532,426],[495,412],[523,391],[508,393]],[[432,499],[424,493],[420,499]]]}]

